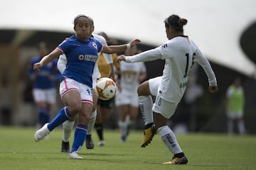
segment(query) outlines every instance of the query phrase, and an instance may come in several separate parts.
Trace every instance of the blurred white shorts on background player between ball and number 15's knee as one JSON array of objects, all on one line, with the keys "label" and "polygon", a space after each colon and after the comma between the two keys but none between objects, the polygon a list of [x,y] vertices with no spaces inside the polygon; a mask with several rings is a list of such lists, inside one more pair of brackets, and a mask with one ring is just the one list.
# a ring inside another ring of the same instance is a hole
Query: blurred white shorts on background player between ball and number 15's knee
[{"label": "blurred white shorts on background player between ball and number 15's knee", "polygon": [[130,105],[134,107],[139,106],[139,97],[137,91],[130,92],[130,91],[117,91],[115,96],[115,105]]}]

